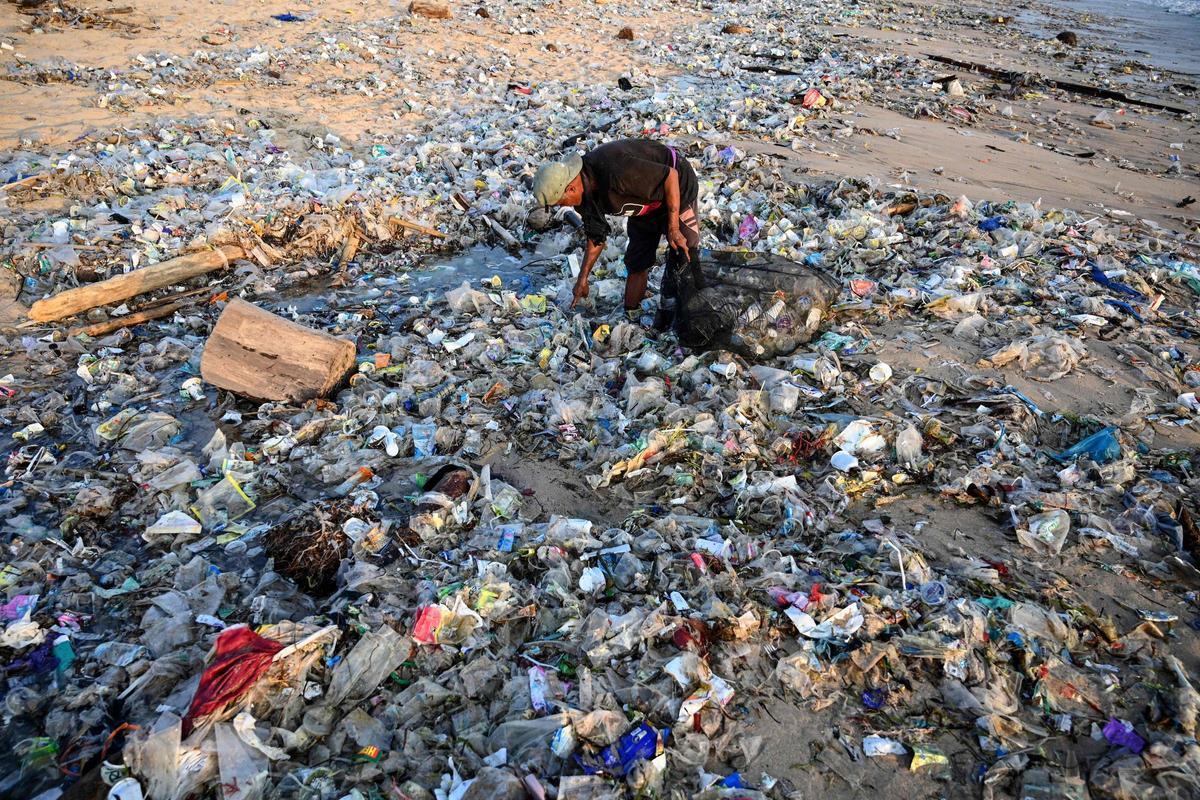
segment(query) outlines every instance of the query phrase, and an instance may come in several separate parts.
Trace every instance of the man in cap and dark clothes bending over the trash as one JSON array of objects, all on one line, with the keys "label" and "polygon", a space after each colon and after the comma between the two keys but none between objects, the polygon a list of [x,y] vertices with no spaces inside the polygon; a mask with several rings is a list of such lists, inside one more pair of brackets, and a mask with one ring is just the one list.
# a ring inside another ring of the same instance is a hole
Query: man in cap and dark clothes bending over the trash
[{"label": "man in cap and dark clothes bending over the trash", "polygon": [[[604,251],[610,228],[606,216],[629,217],[625,225],[625,314],[640,317],[646,283],[664,235],[684,263],[698,254],[696,173],[688,160],[650,139],[622,139],[602,144],[586,156],[546,162],[533,181],[534,198],[542,206],[568,205],[583,218],[587,246],[575,282],[571,308],[588,296],[592,267]],[[662,278],[662,302],[655,325],[671,324],[676,306],[676,276]]]}]

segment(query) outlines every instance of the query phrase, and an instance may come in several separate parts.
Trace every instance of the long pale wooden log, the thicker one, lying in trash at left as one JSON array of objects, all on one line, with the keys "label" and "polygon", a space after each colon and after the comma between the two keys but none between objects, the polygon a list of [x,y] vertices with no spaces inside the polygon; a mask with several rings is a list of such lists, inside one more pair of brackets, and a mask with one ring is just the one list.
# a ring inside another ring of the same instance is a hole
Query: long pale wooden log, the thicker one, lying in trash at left
[{"label": "long pale wooden log, the thicker one, lying in trash at left", "polygon": [[169,261],[152,264],[140,270],[110,277],[107,281],[67,289],[53,297],[38,300],[30,306],[29,318],[38,323],[49,323],[73,317],[89,308],[128,300],[146,291],[162,289],[163,287],[182,283],[206,272],[222,270],[229,266],[232,261],[245,257],[245,254],[246,252],[241,247],[233,245],[200,251],[198,253],[187,253]]}]

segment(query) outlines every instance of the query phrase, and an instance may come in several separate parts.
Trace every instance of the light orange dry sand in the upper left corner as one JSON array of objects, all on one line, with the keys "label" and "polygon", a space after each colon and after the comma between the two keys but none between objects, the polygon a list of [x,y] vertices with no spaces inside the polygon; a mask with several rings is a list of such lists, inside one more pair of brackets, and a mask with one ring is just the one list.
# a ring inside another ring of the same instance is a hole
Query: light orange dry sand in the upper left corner
[{"label": "light orange dry sand in the upper left corner", "polygon": [[[92,7],[104,13],[106,7],[120,5]],[[422,96],[421,78],[451,67],[463,55],[486,53],[496,65],[493,76],[522,84],[563,74],[564,68],[568,74],[575,72],[611,83],[629,68],[634,58],[632,50],[620,47],[623,42],[616,38],[618,28],[628,22],[642,35],[653,36],[665,26],[652,18],[605,20],[604,28],[611,28],[611,35],[598,42],[584,41],[575,20],[593,17],[600,24],[602,6],[580,6],[577,16],[564,17],[557,24],[552,14],[530,19],[530,29],[535,26],[536,32],[529,35],[478,17],[475,6],[460,6],[452,25],[414,17],[394,38],[376,47],[374,53],[366,52],[364,46],[360,53],[367,56],[364,61],[338,60],[340,48],[331,46],[316,64],[275,65],[277,74],[270,76],[265,84],[232,73],[215,73],[192,85],[168,88],[160,102],[131,109],[97,108],[101,98],[95,91],[67,82],[10,79],[2,86],[0,148],[16,146],[26,138],[65,143],[91,131],[152,125],[156,119],[190,115],[215,119],[252,115],[300,136],[331,132],[348,143],[370,146],[373,133],[403,130],[406,97],[437,102],[438,98]],[[272,18],[283,13],[306,20],[284,23]],[[31,29],[30,16],[5,2],[0,5],[0,41],[11,43],[13,49],[0,50],[0,65],[67,59],[84,68],[113,70],[128,68],[139,55],[162,65],[173,55],[218,52],[227,46],[278,50],[300,44],[313,30],[344,32],[346,25],[397,13],[404,13],[400,6],[349,0],[251,4],[149,0],[137,4],[134,13],[109,12],[107,19],[114,20],[112,26]],[[372,91],[370,62],[376,58],[404,59],[410,65],[413,83]],[[150,67],[144,74],[126,79],[136,85],[139,80],[150,84],[152,73],[158,71],[167,70]]]}]

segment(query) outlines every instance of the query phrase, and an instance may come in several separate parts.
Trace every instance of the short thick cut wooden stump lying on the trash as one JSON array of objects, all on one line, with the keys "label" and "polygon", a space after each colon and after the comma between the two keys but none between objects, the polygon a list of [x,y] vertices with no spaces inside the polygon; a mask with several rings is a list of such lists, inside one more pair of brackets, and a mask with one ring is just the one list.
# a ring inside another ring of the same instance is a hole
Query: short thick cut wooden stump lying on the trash
[{"label": "short thick cut wooden stump lying on the trash", "polygon": [[234,299],[204,344],[200,377],[254,399],[304,402],[329,395],[353,366],[353,342]]}]

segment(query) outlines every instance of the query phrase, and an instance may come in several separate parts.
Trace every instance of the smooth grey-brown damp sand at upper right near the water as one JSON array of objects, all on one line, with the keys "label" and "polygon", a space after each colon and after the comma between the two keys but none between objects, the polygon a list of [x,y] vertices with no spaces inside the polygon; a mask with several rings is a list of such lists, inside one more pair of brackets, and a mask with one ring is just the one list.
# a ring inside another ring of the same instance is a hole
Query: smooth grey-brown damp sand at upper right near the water
[{"label": "smooth grey-brown damp sand at upper right near the water", "polygon": [[[893,187],[995,201],[1040,201],[1045,207],[1072,207],[1115,219],[1135,216],[1180,233],[1196,231],[1196,204],[1178,204],[1196,194],[1200,131],[1195,113],[1200,100],[1194,84],[1200,80],[1130,61],[1132,54],[1115,37],[1081,25],[1062,4],[1032,4],[1004,25],[1015,26],[1018,41],[1031,43],[1022,49],[1010,47],[986,22],[956,28],[953,36],[938,35],[932,30],[934,20],[942,19],[949,6],[920,5],[928,14],[912,25],[847,28],[846,40],[868,54],[944,56],[1114,89],[1189,113],[1151,110],[1042,86],[1015,90],[991,76],[946,66],[943,74],[958,76],[968,97],[984,100],[982,108],[974,107],[979,113],[971,124],[913,119],[884,103],[860,103],[852,133],[814,145],[808,152],[785,152],[758,143],[749,146],[775,152],[797,174],[874,178]],[[978,10],[977,18],[988,20],[985,8],[991,7],[968,6],[967,16]],[[1117,24],[1114,20],[1112,25]],[[1188,18],[1186,25],[1194,24]],[[1064,30],[1079,31],[1078,47],[1057,46],[1055,37]],[[1115,115],[1112,128],[1092,125],[1102,112]],[[1170,173],[1172,156],[1183,163],[1183,174]]]}]

